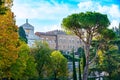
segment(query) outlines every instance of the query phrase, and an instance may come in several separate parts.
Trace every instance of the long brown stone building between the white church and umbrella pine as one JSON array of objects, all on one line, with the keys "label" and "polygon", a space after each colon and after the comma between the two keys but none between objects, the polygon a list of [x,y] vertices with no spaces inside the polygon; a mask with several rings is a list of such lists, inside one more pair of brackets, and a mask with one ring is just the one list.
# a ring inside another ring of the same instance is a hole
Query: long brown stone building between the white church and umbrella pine
[{"label": "long brown stone building between the white church and umbrella pine", "polygon": [[63,31],[54,30],[46,33],[36,32],[42,41],[46,41],[52,49],[70,52],[73,48],[77,51],[83,44],[75,35],[68,35]]}]

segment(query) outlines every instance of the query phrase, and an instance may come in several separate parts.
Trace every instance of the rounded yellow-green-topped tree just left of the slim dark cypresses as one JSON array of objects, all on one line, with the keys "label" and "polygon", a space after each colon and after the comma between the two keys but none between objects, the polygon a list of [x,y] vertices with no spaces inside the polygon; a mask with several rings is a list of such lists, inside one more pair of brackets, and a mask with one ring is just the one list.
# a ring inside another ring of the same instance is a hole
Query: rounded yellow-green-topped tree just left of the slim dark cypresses
[{"label": "rounded yellow-green-topped tree just left of the slim dark cypresses", "polygon": [[[67,78],[67,59],[59,52],[53,51],[51,53],[52,60],[52,71],[54,74],[54,79],[60,79],[64,77],[65,80]],[[60,79],[63,80],[63,79]]]}]

